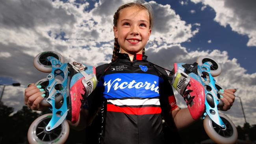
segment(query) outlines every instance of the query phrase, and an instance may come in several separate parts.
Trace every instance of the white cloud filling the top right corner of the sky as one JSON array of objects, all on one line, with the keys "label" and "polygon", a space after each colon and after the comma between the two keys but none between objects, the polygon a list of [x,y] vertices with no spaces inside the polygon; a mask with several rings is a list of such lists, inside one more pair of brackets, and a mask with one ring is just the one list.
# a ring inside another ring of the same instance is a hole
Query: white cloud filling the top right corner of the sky
[{"label": "white cloud filling the top right corner of the sky", "polygon": [[247,46],[256,46],[256,1],[247,0],[191,0],[194,3],[202,2],[210,6],[216,12],[214,20],[221,26],[230,25],[233,31],[241,35],[247,35]]}]

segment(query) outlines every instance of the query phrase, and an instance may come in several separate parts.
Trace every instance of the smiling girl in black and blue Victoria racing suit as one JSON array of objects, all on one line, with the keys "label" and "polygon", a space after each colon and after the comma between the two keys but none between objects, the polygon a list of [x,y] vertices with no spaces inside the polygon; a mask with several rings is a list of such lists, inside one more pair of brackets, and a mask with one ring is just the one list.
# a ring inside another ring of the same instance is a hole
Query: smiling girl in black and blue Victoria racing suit
[{"label": "smiling girl in black and blue Victoria racing suit", "polygon": [[[96,68],[99,82],[94,94],[89,96],[92,99],[89,109],[82,109],[79,122],[70,124],[83,129],[100,107],[97,125],[101,144],[162,144],[165,142],[163,120],[169,127],[178,129],[194,121],[187,108],[176,105],[165,70],[147,61],[144,47],[152,22],[148,4],[132,2],[115,12],[112,62]],[[230,109],[234,92],[234,89],[225,90],[222,110]],[[25,90],[25,104],[31,109],[42,109],[41,100],[43,97],[35,85]]]}]

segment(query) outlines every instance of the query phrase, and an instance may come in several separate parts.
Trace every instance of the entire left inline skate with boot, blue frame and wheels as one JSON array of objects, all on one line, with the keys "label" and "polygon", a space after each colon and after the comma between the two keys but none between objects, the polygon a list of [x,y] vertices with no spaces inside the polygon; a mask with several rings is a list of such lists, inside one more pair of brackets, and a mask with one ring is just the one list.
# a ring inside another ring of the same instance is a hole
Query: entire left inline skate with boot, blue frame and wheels
[{"label": "entire left inline skate with boot, blue frame and wheels", "polygon": [[52,111],[37,118],[28,130],[28,141],[35,143],[63,144],[69,135],[69,124],[76,123],[81,106],[96,88],[95,67],[80,63],[64,63],[58,52],[42,52],[34,59],[34,66],[41,72],[50,72],[36,85],[45,90],[40,105]]}]

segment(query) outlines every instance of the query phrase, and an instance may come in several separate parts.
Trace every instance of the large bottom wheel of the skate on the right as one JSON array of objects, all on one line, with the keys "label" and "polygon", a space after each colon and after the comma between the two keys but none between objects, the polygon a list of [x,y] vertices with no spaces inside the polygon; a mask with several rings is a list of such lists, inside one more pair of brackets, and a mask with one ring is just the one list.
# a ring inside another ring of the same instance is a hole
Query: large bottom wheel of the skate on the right
[{"label": "large bottom wheel of the skate on the right", "polygon": [[204,129],[207,135],[217,144],[234,144],[237,140],[236,126],[226,115],[219,113],[219,116],[226,125],[226,129],[215,124],[207,115],[204,118]]}]

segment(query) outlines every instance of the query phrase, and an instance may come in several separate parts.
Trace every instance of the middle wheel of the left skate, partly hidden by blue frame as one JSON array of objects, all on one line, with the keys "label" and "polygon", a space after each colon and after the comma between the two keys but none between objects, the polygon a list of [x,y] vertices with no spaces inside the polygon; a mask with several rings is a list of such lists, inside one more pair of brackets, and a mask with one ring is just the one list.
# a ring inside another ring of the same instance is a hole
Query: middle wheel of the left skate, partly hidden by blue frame
[{"label": "middle wheel of the left skate, partly hidden by blue frame", "polygon": [[[61,80],[59,80],[59,79],[56,79],[56,81],[61,83]],[[41,85],[42,86],[41,89],[45,90],[45,98],[40,102],[40,105],[45,106],[45,107],[50,107],[51,106],[50,103],[47,102],[49,92],[46,89],[46,87],[49,85],[49,80],[47,78],[41,79],[41,80],[37,81],[35,83],[35,85]],[[61,102],[61,100],[63,100],[63,96],[59,95],[59,96],[55,97],[55,103],[59,103],[59,102]]]}]

